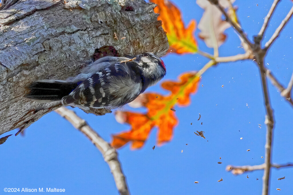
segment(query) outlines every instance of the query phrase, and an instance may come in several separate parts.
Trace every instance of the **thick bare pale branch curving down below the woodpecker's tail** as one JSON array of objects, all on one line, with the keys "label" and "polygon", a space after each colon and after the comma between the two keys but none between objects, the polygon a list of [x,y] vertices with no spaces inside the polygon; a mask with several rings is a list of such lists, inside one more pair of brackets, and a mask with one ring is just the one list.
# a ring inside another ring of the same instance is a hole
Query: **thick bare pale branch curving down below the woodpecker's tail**
[{"label": "thick bare pale branch curving down below the woodpecker's tail", "polygon": [[118,160],[118,154],[110,144],[100,137],[87,123],[85,120],[79,118],[74,111],[68,108],[61,107],[55,110],[59,115],[66,118],[77,130],[82,132],[88,139],[92,141],[93,144],[99,149],[103,154],[103,158],[106,163],[108,163],[111,173],[113,174],[116,187],[120,194],[128,195],[128,187],[126,183],[125,176],[122,172],[121,164]]}]

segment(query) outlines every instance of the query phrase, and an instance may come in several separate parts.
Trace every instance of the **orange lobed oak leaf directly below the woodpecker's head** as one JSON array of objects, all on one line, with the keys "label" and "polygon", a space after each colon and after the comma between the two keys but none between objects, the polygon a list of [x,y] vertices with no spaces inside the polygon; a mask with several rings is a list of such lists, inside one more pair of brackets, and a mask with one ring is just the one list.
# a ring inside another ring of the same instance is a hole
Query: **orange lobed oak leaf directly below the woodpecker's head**
[{"label": "orange lobed oak leaf directly below the woodpecker's head", "polygon": [[178,123],[175,110],[171,108],[175,105],[187,106],[190,103],[190,94],[196,92],[200,80],[195,75],[196,72],[184,73],[179,77],[179,81],[163,82],[162,87],[170,91],[166,96],[157,93],[141,94],[132,105],[146,107],[146,113],[117,111],[116,120],[128,123],[131,130],[113,135],[111,145],[120,148],[131,142],[132,149],[141,148],[154,127],[158,127],[158,145],[170,141],[173,129]]}]

